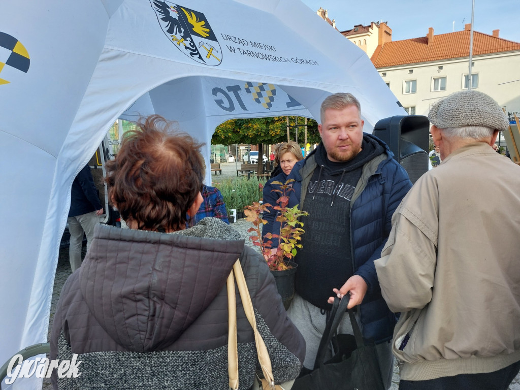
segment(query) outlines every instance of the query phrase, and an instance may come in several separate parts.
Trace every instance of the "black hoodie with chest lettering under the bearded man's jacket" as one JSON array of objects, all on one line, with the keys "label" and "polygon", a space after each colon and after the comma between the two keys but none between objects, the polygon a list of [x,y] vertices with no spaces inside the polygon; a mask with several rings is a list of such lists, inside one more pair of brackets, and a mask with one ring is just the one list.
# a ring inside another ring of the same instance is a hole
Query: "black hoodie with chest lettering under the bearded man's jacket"
[{"label": "black hoodie with chest lettering under the bearded man's jacket", "polygon": [[[350,258],[350,199],[361,178],[363,165],[382,154],[384,148],[363,137],[362,150],[347,162],[332,162],[320,144],[316,150],[316,167],[309,181],[302,209],[303,248],[296,262],[296,291],[306,301],[322,309],[333,288],[340,288],[353,275]],[[319,263],[319,264],[318,264]]]}]

